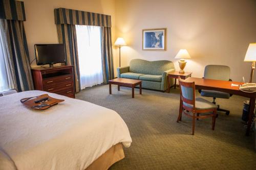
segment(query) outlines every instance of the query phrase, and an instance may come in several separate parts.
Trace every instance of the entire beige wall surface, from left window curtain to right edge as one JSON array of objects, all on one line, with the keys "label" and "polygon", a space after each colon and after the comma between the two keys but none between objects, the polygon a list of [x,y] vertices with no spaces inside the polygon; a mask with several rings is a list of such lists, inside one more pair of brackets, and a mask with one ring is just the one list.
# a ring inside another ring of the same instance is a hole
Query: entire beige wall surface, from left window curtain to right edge
[{"label": "entire beige wall surface, from left window curtain to right edge", "polygon": [[[34,44],[57,43],[54,8],[70,8],[112,16],[112,41],[124,37],[121,65],[131,59],[170,60],[180,48],[192,59],[185,70],[202,77],[207,64],[231,67],[231,78],[246,80],[250,63],[243,62],[248,43],[256,42],[256,1],[253,0],[24,0],[25,30],[30,58]],[[142,51],[142,29],[167,28],[167,51]],[[119,65],[118,47],[114,49],[115,75]],[[32,66],[35,66],[33,62]],[[255,74],[256,75],[256,74]],[[256,76],[254,76],[256,81]]]}]

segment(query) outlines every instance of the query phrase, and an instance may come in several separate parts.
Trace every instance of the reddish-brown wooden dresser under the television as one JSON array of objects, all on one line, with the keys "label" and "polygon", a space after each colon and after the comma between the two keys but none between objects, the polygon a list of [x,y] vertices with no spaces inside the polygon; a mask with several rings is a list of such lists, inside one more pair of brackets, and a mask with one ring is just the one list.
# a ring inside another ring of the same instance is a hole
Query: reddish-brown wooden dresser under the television
[{"label": "reddish-brown wooden dresser under the television", "polygon": [[48,91],[75,98],[74,67],[31,68],[35,90]]}]

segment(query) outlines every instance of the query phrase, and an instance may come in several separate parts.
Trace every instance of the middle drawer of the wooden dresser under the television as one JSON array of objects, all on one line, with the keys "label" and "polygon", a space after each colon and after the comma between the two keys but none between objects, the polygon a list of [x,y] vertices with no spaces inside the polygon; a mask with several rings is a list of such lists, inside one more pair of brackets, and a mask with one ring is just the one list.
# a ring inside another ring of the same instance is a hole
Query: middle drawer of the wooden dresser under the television
[{"label": "middle drawer of the wooden dresser under the television", "polygon": [[58,91],[63,91],[63,90],[70,90],[74,89],[74,83],[73,81],[67,81],[63,83],[58,83],[57,85],[51,85],[51,86],[46,86],[44,87],[44,91],[48,92],[58,92]]}]

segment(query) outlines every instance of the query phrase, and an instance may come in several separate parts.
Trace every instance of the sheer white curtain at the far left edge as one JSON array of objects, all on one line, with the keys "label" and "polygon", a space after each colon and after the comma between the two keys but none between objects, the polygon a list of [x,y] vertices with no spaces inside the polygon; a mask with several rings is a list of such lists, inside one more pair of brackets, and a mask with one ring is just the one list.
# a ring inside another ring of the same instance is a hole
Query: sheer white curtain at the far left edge
[{"label": "sheer white curtain at the far left edge", "polygon": [[13,89],[11,70],[8,63],[7,47],[0,27],[0,91]]}]

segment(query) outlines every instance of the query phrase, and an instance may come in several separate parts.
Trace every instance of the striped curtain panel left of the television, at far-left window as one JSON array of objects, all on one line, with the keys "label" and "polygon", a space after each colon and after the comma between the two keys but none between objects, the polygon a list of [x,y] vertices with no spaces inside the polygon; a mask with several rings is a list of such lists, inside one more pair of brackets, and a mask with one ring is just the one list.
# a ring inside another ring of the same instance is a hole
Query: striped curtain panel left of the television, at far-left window
[{"label": "striped curtain panel left of the television, at far-left window", "polygon": [[23,21],[0,19],[8,62],[14,88],[18,91],[33,90],[29,52]]}]

